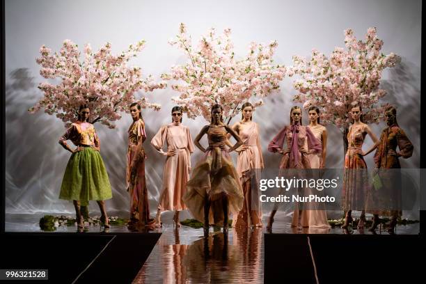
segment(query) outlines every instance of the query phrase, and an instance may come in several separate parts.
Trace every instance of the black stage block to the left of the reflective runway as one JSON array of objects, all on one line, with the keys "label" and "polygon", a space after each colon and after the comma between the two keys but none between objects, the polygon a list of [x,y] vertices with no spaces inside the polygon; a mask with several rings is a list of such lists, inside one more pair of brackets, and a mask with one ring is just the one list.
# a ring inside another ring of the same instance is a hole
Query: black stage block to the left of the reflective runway
[{"label": "black stage block to the left of the reflective runway", "polygon": [[10,283],[132,283],[160,235],[6,232],[0,235],[0,267],[49,269],[48,281]]}]

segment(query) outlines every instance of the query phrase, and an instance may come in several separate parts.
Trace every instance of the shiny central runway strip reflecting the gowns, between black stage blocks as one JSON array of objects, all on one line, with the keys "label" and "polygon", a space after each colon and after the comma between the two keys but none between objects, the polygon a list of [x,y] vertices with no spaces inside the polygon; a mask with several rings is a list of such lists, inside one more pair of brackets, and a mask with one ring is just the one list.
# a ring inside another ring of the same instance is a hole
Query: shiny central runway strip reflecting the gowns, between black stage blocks
[{"label": "shiny central runway strip reflecting the gowns, between black stage blocks", "polygon": [[262,229],[163,230],[133,283],[263,283]]}]

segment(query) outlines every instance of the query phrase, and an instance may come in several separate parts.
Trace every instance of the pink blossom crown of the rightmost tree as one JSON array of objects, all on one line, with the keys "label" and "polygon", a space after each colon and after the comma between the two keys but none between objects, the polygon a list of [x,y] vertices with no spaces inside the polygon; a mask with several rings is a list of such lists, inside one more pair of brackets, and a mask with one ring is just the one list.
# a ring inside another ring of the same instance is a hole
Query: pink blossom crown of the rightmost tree
[{"label": "pink blossom crown of the rightmost tree", "polygon": [[294,101],[303,102],[303,108],[312,105],[322,111],[322,121],[345,129],[351,122],[349,111],[361,104],[364,123],[379,123],[384,107],[378,105],[386,90],[379,88],[381,72],[394,67],[401,58],[394,53],[381,53],[383,41],[370,28],[365,41],[357,40],[352,29],[345,31],[346,48],[336,47],[327,57],[313,50],[310,60],[293,56],[288,76],[299,75],[293,86],[299,90]]}]

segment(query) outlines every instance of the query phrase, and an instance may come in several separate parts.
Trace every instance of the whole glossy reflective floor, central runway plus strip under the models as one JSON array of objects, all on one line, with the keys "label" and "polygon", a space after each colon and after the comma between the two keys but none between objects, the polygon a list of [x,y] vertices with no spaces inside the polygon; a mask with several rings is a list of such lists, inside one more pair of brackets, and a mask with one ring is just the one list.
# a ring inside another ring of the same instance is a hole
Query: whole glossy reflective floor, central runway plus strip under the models
[{"label": "whole glossy reflective floor, central runway plus strip under the models", "polygon": [[[38,219],[40,216],[36,214],[7,215],[6,232],[41,232]],[[292,228],[291,215],[284,212],[277,212],[275,220],[272,235],[344,233],[340,228],[327,230]],[[227,234],[224,234],[221,228],[210,228],[209,236],[205,238],[203,228],[182,226],[176,229],[168,218],[164,218],[163,221],[162,228],[150,231],[161,232],[161,237],[148,259],[141,265],[132,283],[264,283],[265,233],[267,233],[265,228],[255,230],[230,228]],[[266,226],[267,214],[264,214],[263,222]],[[59,226],[56,229],[56,232],[76,231],[77,227],[74,226]],[[88,226],[85,231],[102,230],[99,226]],[[397,226],[397,235],[418,235],[419,231],[420,223]],[[113,235],[129,230],[126,226],[111,226],[109,232]],[[351,229],[349,233],[365,237],[372,235],[368,230],[360,232]],[[376,234],[388,236],[386,230],[377,229]],[[306,259],[309,262],[308,266],[312,265],[310,258]]]}]

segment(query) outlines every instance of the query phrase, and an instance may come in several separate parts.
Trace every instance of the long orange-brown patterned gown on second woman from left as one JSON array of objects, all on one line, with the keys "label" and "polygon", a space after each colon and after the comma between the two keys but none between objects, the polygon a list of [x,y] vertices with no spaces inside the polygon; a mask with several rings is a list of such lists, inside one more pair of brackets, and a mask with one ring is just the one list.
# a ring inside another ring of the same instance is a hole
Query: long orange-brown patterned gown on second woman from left
[{"label": "long orange-brown patterned gown on second woman from left", "polygon": [[[130,194],[130,221],[142,226],[152,226],[148,189],[145,180],[145,150],[142,143],[146,139],[143,120],[134,121],[129,127],[129,146],[127,148],[127,190]],[[132,175],[132,164],[136,166],[136,174]]]}]

